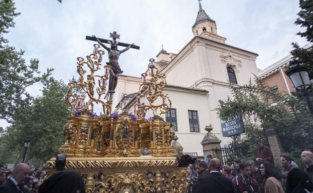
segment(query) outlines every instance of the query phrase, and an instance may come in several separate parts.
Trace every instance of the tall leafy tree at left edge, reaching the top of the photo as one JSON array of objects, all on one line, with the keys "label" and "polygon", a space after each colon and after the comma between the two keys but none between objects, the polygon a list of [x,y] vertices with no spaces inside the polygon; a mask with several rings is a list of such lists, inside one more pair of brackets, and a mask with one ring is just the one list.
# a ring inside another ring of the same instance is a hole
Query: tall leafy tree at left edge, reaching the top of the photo
[{"label": "tall leafy tree at left edge, reaching the top of the photo", "polygon": [[0,118],[11,121],[13,113],[31,103],[31,96],[26,88],[34,83],[47,80],[52,69],[41,74],[38,71],[39,61],[32,59],[27,65],[22,58],[24,51],[16,51],[8,45],[4,34],[13,28],[13,19],[20,15],[16,13],[12,0],[0,0]]}]

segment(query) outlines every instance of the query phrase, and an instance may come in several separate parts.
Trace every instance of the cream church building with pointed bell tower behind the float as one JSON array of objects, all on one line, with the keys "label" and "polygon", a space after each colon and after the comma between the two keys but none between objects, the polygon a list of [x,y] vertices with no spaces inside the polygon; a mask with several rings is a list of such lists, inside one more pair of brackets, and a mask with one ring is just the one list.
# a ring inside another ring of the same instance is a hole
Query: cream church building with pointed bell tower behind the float
[{"label": "cream church building with pointed bell tower behind the float", "polygon": [[[165,93],[172,101],[172,109],[163,115],[164,119],[173,124],[183,152],[203,155],[201,141],[207,133],[206,125],[212,125],[212,132],[222,141],[221,146],[231,142],[231,138],[222,136],[215,110],[218,101],[231,95],[231,85],[247,84],[260,70],[255,62],[256,53],[225,44],[226,38],[217,34],[215,21],[201,4],[192,32],[194,37],[179,53],[161,50],[154,64],[167,76]],[[116,102],[112,106],[115,112],[133,111],[140,83],[141,78],[119,76]],[[147,114],[149,116],[152,115]]]}]

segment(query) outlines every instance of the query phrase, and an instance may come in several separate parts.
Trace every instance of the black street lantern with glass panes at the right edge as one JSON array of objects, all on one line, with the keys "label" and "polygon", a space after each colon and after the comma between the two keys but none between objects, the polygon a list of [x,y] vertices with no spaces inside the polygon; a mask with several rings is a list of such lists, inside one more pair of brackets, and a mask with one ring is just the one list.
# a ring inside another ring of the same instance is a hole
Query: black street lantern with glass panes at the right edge
[{"label": "black street lantern with glass panes at the right edge", "polygon": [[290,67],[286,70],[286,75],[290,78],[295,90],[304,96],[308,109],[313,114],[313,105],[310,101],[308,91],[311,88],[311,83],[308,77],[308,68],[301,65],[299,61],[293,60]]}]

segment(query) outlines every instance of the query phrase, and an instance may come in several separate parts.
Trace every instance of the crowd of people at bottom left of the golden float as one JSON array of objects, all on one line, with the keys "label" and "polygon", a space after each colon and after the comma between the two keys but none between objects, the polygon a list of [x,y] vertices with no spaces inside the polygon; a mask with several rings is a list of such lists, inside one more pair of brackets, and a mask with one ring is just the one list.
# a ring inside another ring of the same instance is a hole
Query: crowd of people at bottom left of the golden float
[{"label": "crowd of people at bottom left of the golden float", "polygon": [[60,171],[45,179],[45,168],[17,164],[13,170],[0,167],[0,193],[85,193],[84,180],[75,171]]}]

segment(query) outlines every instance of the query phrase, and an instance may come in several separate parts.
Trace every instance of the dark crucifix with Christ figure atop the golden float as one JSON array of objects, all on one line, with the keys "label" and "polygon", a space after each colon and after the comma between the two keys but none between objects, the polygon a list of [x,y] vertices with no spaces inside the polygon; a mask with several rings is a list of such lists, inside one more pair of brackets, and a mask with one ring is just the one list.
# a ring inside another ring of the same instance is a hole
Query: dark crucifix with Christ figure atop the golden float
[{"label": "dark crucifix with Christ figure atop the golden float", "polygon": [[[110,66],[110,70],[109,70],[109,74],[110,74],[109,92],[114,93],[114,90],[115,90],[116,85],[117,85],[118,76],[119,76],[119,74],[121,74],[123,72],[118,65],[119,55],[121,53],[129,50],[129,48],[139,50],[140,47],[136,46],[134,44],[126,44],[126,43],[121,43],[121,42],[116,41],[116,39],[119,39],[119,35],[116,32],[110,33],[110,38],[112,38],[112,40],[101,39],[101,38],[97,38],[95,36],[86,36],[86,40],[98,42],[108,52],[109,62],[107,62],[106,64],[108,66]],[[104,45],[104,43],[110,44],[111,47],[110,48],[106,47]],[[123,46],[126,48],[119,51],[119,50],[117,50],[117,45]]]}]

